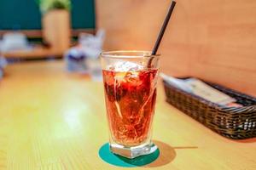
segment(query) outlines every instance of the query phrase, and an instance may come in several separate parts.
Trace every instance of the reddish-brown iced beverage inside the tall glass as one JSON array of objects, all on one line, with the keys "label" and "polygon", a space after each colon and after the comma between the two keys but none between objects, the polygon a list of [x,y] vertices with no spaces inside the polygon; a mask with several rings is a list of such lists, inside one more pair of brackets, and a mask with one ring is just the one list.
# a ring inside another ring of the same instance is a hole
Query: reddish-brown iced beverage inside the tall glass
[{"label": "reddish-brown iced beverage inside the tall glass", "polygon": [[103,70],[108,124],[116,144],[136,146],[149,139],[157,72]]}]

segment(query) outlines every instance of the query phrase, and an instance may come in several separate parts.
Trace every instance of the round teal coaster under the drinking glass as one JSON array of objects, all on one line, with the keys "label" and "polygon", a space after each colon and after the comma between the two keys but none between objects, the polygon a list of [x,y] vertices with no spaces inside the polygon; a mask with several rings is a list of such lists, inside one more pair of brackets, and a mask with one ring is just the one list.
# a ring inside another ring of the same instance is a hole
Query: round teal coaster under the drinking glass
[{"label": "round teal coaster under the drinking glass", "polygon": [[142,167],[148,165],[149,163],[155,161],[160,155],[160,150],[157,149],[153,153],[148,154],[147,156],[138,156],[133,159],[129,159],[123,156],[118,156],[113,154],[109,150],[109,144],[103,144],[99,150],[99,156],[103,161],[108,162],[111,165],[118,167]]}]

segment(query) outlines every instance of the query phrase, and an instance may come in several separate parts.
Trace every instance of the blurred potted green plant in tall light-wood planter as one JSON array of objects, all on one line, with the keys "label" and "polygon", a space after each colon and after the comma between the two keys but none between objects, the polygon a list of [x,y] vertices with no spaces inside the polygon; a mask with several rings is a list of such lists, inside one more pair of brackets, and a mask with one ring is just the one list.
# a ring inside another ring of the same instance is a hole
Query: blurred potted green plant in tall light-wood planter
[{"label": "blurred potted green plant in tall light-wood planter", "polygon": [[44,41],[54,54],[63,54],[70,44],[70,0],[39,0],[43,14]]}]

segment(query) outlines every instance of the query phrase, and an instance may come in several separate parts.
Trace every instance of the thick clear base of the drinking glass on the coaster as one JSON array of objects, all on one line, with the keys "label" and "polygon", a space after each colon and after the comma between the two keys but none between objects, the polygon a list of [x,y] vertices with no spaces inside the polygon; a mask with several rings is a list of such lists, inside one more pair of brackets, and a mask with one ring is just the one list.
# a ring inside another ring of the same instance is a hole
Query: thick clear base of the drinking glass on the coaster
[{"label": "thick clear base of the drinking glass on the coaster", "polygon": [[138,146],[125,147],[121,144],[109,144],[110,150],[119,156],[127,158],[135,158],[137,156],[144,156],[153,153],[157,150],[157,145],[153,143],[141,144]]}]

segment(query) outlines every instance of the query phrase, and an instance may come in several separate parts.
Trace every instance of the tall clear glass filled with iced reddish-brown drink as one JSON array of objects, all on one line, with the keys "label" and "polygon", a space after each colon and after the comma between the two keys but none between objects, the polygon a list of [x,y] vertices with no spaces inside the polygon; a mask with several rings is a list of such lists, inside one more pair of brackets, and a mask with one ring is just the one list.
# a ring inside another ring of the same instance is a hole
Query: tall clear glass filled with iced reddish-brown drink
[{"label": "tall clear glass filled with iced reddish-brown drink", "polygon": [[102,53],[101,59],[110,150],[128,158],[154,152],[151,132],[159,56],[113,51]]}]

